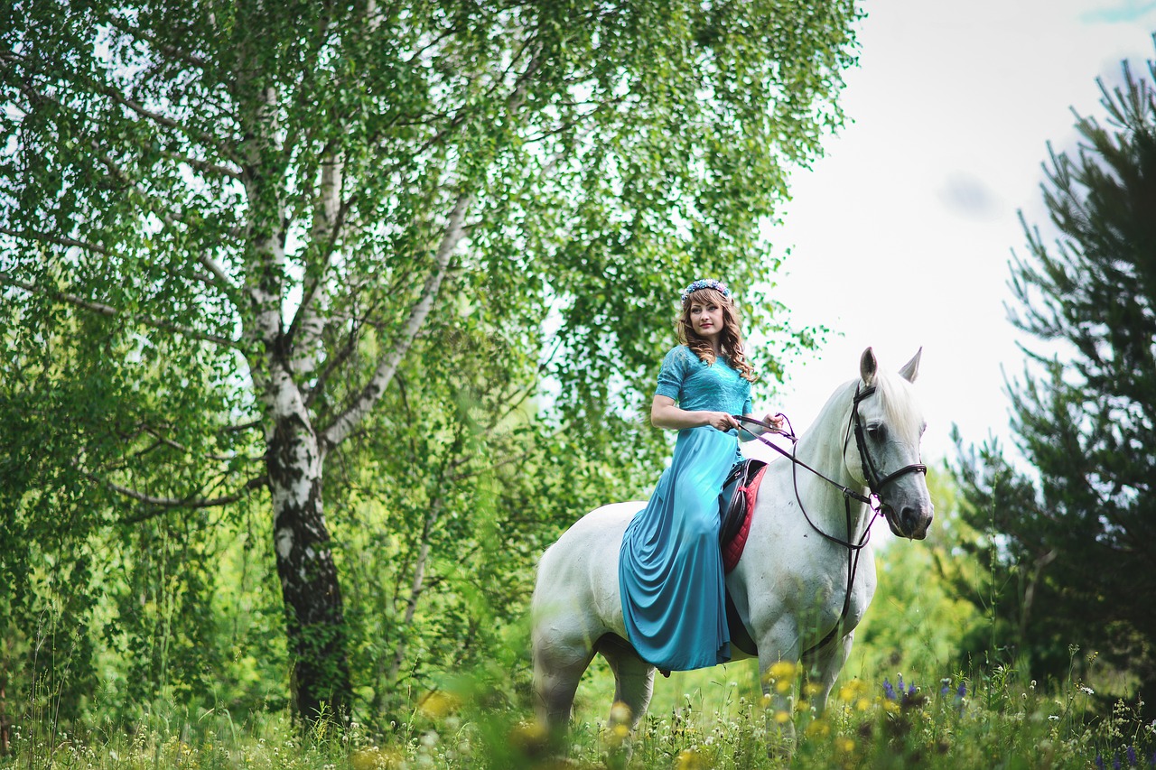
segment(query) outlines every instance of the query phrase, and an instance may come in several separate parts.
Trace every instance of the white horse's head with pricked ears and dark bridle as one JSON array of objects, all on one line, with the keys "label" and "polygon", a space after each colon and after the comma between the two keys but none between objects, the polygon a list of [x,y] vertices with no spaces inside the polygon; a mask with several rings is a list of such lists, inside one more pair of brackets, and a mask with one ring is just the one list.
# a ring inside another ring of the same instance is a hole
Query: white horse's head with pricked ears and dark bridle
[{"label": "white horse's head with pricked ears and dark bridle", "polygon": [[912,540],[927,536],[935,512],[919,459],[926,423],[911,387],[921,354],[922,348],[896,377],[880,371],[870,348],[864,350],[844,443],[847,471],[879,496],[891,532]]}]

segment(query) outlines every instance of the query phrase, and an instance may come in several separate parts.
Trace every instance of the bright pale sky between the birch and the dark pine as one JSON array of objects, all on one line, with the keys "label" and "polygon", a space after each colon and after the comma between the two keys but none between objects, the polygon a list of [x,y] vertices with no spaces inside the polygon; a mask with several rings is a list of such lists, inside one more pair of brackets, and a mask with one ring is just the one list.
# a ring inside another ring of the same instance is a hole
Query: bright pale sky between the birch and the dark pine
[{"label": "bright pale sky between the birch and the dark pine", "polygon": [[[772,289],[795,326],[831,331],[788,382],[757,398],[802,432],[873,347],[897,370],[920,347],[917,392],[927,420],[924,461],[996,437],[1013,446],[1007,378],[1021,376],[1007,321],[1017,212],[1047,223],[1040,195],[1047,142],[1076,146],[1073,110],[1102,116],[1097,77],[1121,61],[1150,79],[1156,1],[868,0],[859,65],[845,73],[847,125],[771,230],[790,254]],[[754,336],[754,335],[753,335]]]}]

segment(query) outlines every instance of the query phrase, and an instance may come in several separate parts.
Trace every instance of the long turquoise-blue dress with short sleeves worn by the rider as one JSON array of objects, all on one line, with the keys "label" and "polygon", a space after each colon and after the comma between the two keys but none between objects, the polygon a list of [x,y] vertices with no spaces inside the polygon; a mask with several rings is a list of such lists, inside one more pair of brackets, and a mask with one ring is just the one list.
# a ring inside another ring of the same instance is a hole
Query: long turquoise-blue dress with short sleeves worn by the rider
[{"label": "long turquoise-blue dress with short sleeves worn by the rider", "polygon": [[[721,358],[702,362],[686,346],[662,360],[657,395],[688,410],[750,413],[750,383]],[[736,431],[679,431],[674,458],[622,538],[618,586],[627,636],[665,671],[731,659],[718,496],[739,459]]]}]

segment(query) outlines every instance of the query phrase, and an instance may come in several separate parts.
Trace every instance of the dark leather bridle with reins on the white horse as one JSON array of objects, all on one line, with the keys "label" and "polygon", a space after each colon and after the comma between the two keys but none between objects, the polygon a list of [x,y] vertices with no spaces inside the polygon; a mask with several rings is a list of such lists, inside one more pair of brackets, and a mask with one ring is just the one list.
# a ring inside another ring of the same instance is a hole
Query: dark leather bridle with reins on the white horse
[{"label": "dark leather bridle with reins on the white horse", "polygon": [[[866,547],[867,542],[870,540],[870,527],[872,527],[872,524],[874,524],[875,519],[880,516],[880,513],[882,513],[883,517],[887,518],[888,523],[892,527],[895,527],[895,521],[892,519],[892,517],[895,516],[895,511],[891,509],[890,505],[884,504],[883,501],[882,501],[882,498],[880,497],[880,493],[883,490],[883,487],[885,487],[890,482],[895,481],[899,476],[906,475],[909,473],[922,473],[924,475],[927,475],[927,466],[926,465],[924,465],[921,462],[913,462],[911,465],[906,465],[906,466],[899,468],[898,471],[894,471],[892,473],[889,473],[885,476],[881,476],[881,474],[879,472],[879,468],[875,465],[875,461],[872,459],[870,453],[867,451],[867,439],[864,436],[862,420],[860,420],[860,417],[859,417],[859,403],[862,402],[865,399],[870,398],[874,393],[875,393],[875,386],[874,385],[869,385],[867,387],[861,387],[860,385],[855,385],[855,394],[854,394],[854,398],[852,399],[852,402],[851,402],[851,420],[850,420],[850,424],[847,425],[847,431],[846,431],[846,434],[844,436],[844,439],[843,439],[843,457],[845,458],[846,454],[847,454],[847,443],[851,440],[851,436],[854,435],[854,437],[855,437],[855,449],[859,451],[859,459],[860,459],[860,462],[862,462],[864,479],[866,479],[866,481],[867,481],[867,489],[870,491],[870,495],[864,495],[862,493],[860,493],[858,490],[854,490],[854,489],[852,489],[850,487],[840,484],[839,482],[835,481],[833,479],[828,477],[823,473],[820,473],[818,471],[816,471],[815,468],[810,467],[809,465],[807,465],[806,462],[803,462],[802,460],[800,460],[798,457],[795,457],[795,451],[796,451],[798,445],[799,445],[799,439],[795,438],[795,436],[794,436],[794,431],[793,431],[793,428],[791,427],[791,421],[790,420],[787,420],[787,430],[784,431],[784,430],[777,429],[777,428],[775,428],[772,425],[769,425],[768,423],[763,422],[762,420],[754,420],[751,417],[746,417],[746,416],[742,416],[742,415],[733,415],[739,421],[739,428],[741,430],[746,430],[753,437],[757,438],[759,442],[762,442],[766,446],[770,446],[776,452],[778,452],[783,457],[785,457],[788,460],[791,460],[791,464],[792,464],[791,465],[791,480],[792,480],[792,483],[794,484],[795,502],[799,503],[799,510],[802,511],[803,518],[807,519],[807,524],[810,525],[812,530],[814,530],[815,532],[817,532],[818,534],[821,534],[827,540],[829,540],[829,541],[831,541],[833,543],[837,543],[839,546],[843,546],[844,548],[847,549],[847,592],[846,592],[846,594],[843,598],[843,612],[839,614],[839,620],[837,620],[835,622],[835,627],[827,634],[827,636],[824,636],[817,644],[812,645],[809,649],[807,649],[802,653],[802,656],[800,656],[800,657],[803,657],[803,658],[807,657],[807,656],[809,656],[810,653],[813,653],[813,652],[815,652],[815,651],[817,651],[817,650],[827,646],[832,639],[835,639],[836,636],[838,635],[839,628],[843,625],[843,622],[846,620],[847,613],[851,610],[852,586],[854,585],[855,575],[859,571],[859,556],[861,555],[864,547]],[[779,414],[779,415],[776,415],[776,416],[780,416],[784,420],[786,420],[786,415],[784,415],[784,414]],[[770,442],[769,439],[766,439],[764,436],[762,436],[759,434],[756,434],[756,432],[749,430],[748,428],[744,428],[742,423],[754,423],[754,424],[761,425],[762,428],[764,428],[764,429],[766,429],[769,431],[778,432],[778,434],[781,434],[781,435],[786,436],[788,439],[791,439],[791,452],[788,453],[786,450],[781,449],[777,444],[773,444],[772,442]],[[844,506],[844,511],[846,513],[846,524],[847,524],[847,536],[846,536],[846,540],[844,540],[842,538],[837,538],[837,536],[835,536],[832,534],[829,534],[829,533],[823,532],[822,530],[820,530],[818,526],[812,520],[810,516],[807,513],[807,509],[803,506],[802,498],[799,495],[799,475],[798,475],[799,466],[802,466],[807,471],[810,471],[813,474],[815,474],[816,476],[818,476],[823,481],[828,482],[829,484],[838,488],[839,491],[843,493],[843,506]],[[862,535],[859,538],[859,542],[851,542],[851,501],[852,499],[866,504],[872,510],[872,512],[873,512],[870,520],[867,523],[867,526],[864,528]],[[898,527],[896,527],[896,528],[898,528]]]}]

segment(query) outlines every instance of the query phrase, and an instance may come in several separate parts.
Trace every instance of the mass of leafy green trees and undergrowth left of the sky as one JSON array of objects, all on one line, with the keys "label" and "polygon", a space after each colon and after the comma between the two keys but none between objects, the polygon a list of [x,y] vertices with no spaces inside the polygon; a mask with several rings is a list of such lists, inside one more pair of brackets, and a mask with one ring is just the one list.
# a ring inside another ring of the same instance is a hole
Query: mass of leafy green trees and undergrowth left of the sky
[{"label": "mass of leafy green trees and undergrowth left of the sky", "polygon": [[842,123],[850,0],[3,13],[0,634],[59,599],[132,703],[276,697],[288,656],[306,716],[354,683],[390,711],[652,481],[677,287],[810,345],[753,287]]}]

